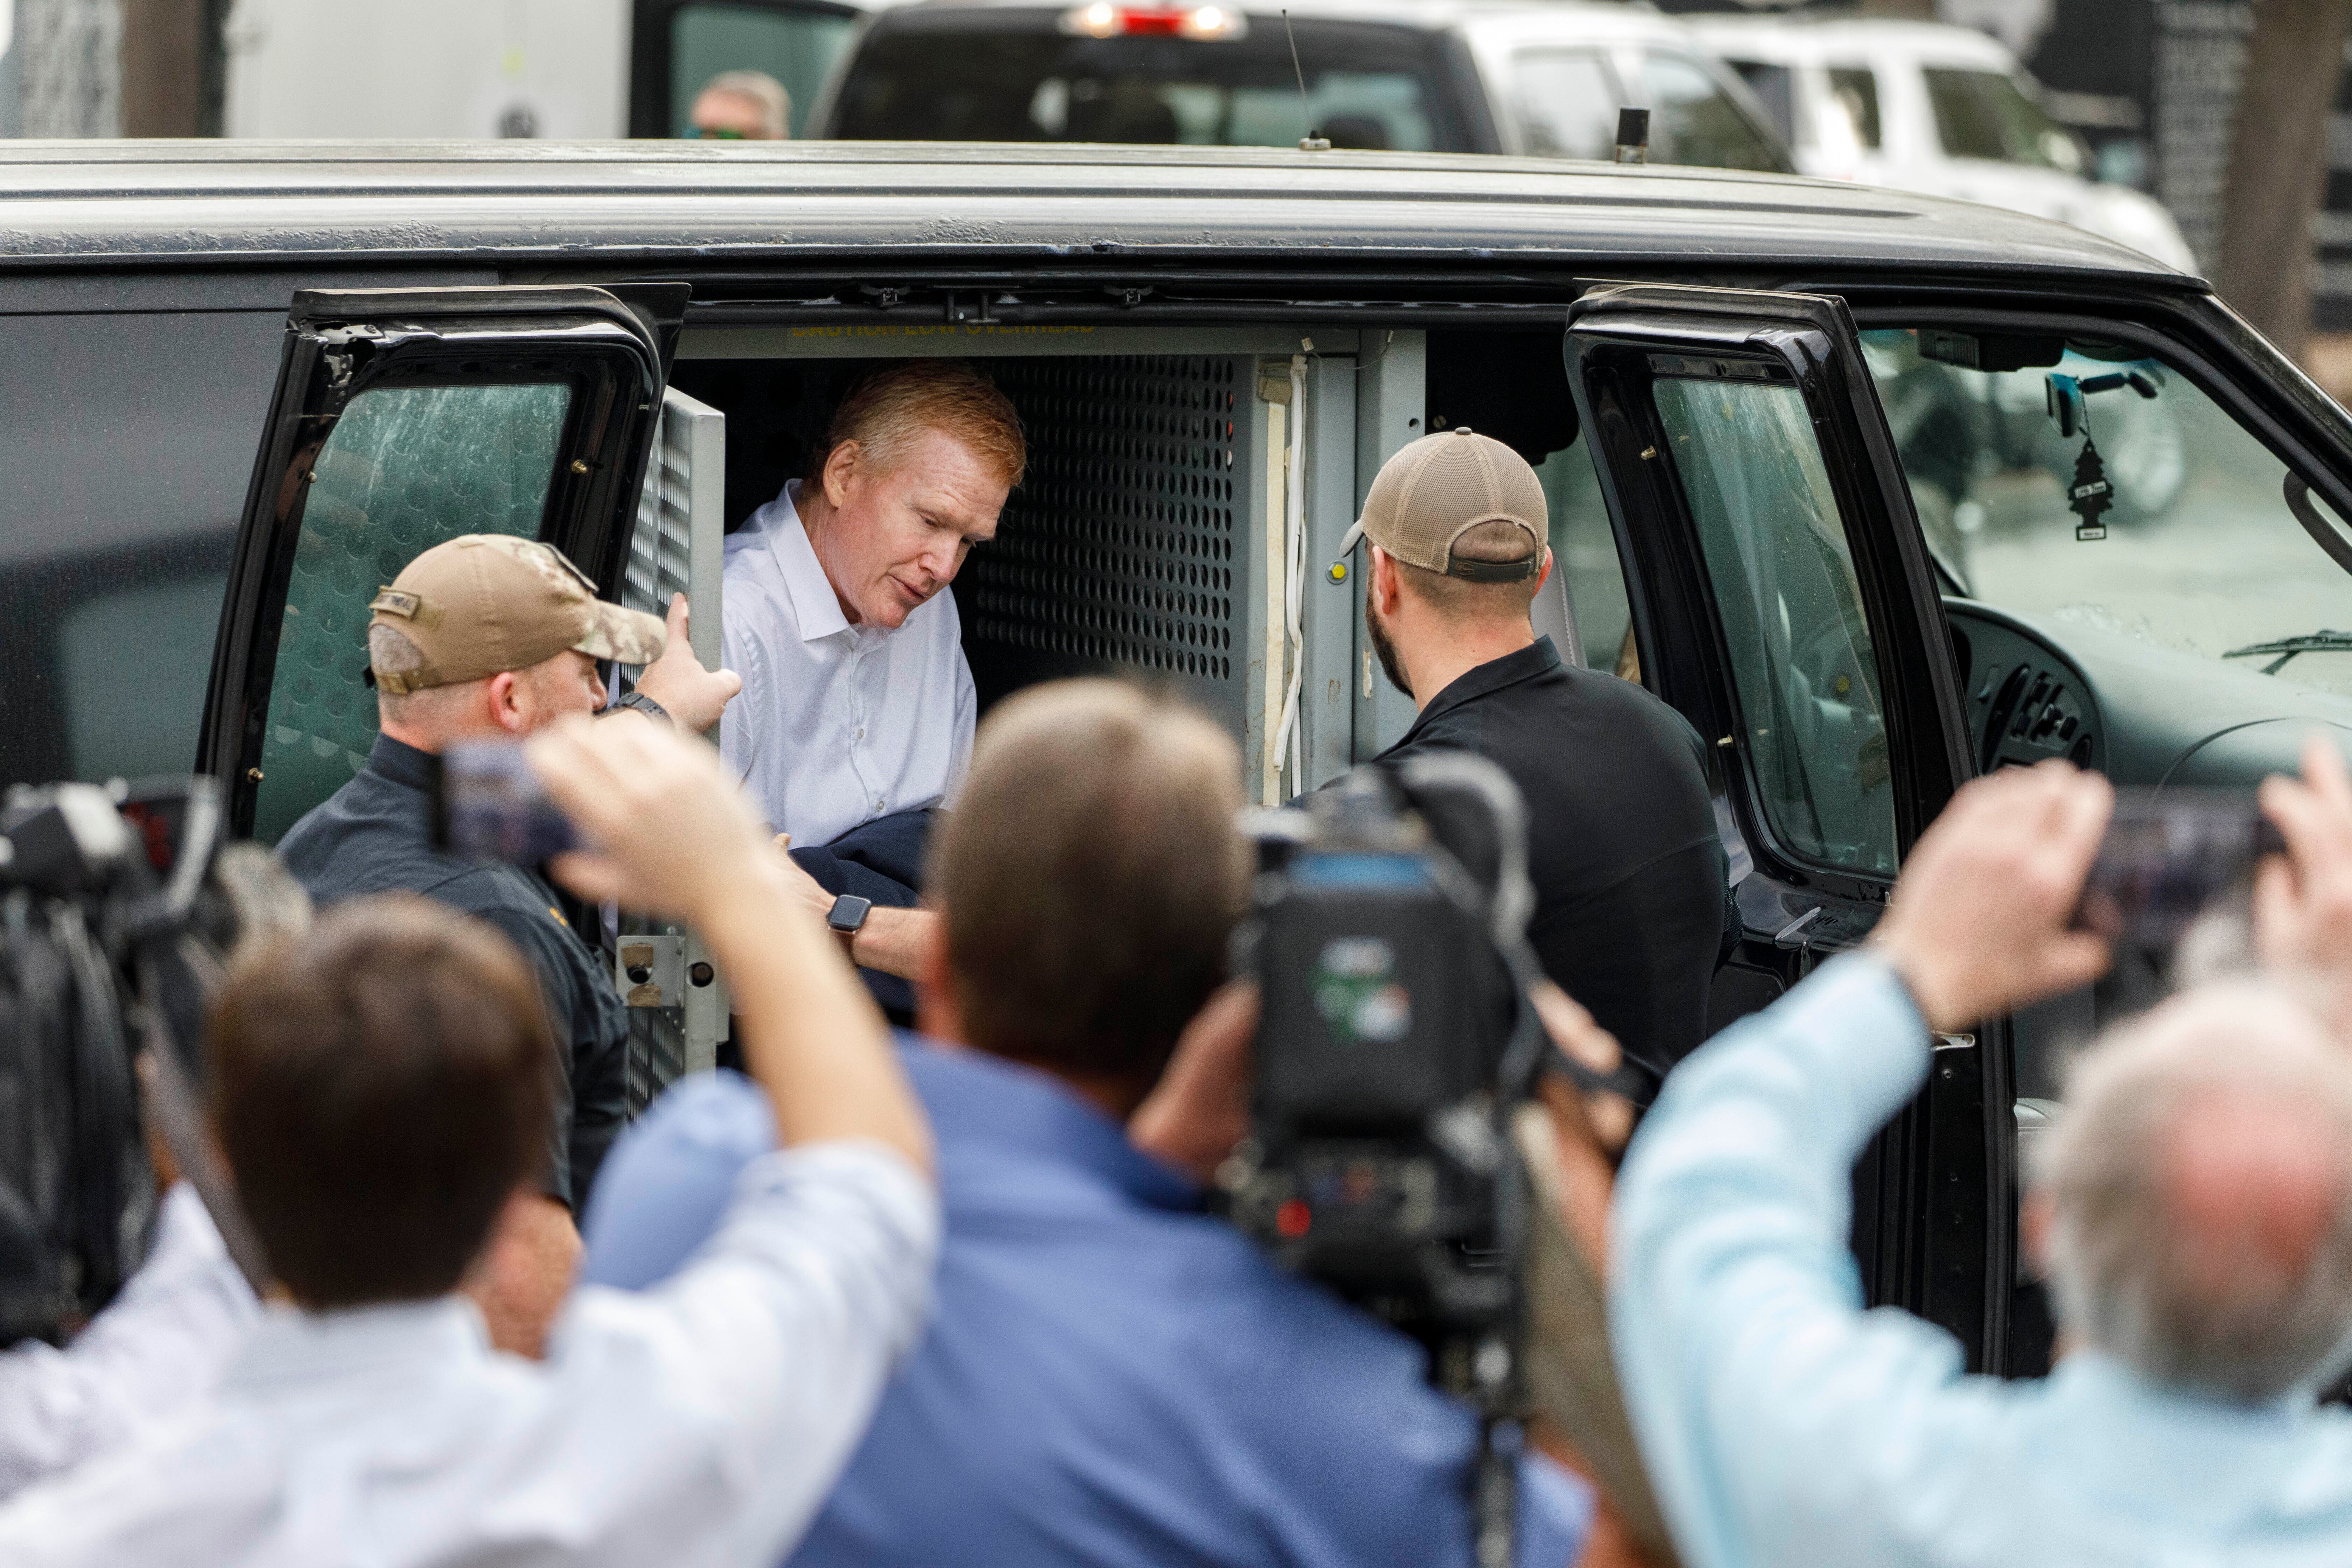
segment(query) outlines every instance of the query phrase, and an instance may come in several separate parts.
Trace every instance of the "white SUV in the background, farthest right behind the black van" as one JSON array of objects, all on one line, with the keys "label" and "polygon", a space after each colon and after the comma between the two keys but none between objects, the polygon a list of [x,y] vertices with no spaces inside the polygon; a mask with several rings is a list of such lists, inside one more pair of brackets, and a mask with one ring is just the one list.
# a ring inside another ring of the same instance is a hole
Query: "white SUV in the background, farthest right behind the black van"
[{"label": "white SUV in the background, farthest right behind the black van", "polygon": [[1835,14],[1696,14],[1804,174],[2009,207],[2197,270],[2180,226],[2042,108],[2018,59],[1973,28]]}]

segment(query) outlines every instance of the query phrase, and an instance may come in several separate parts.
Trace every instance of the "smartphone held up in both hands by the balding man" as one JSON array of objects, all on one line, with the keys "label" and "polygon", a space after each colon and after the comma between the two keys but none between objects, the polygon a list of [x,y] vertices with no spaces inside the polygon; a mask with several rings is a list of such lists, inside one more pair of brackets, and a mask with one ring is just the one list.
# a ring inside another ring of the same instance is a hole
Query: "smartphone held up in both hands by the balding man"
[{"label": "smartphone held up in both hands by the balding man", "polygon": [[2216,900],[2241,898],[2256,863],[2284,849],[2251,790],[2117,792],[2074,924],[2169,950]]}]

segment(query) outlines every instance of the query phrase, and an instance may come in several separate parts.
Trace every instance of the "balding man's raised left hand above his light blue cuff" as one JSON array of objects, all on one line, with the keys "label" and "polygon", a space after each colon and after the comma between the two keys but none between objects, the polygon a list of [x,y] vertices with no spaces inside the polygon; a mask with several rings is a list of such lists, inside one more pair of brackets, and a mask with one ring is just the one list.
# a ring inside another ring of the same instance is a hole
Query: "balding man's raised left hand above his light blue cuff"
[{"label": "balding man's raised left hand above his light blue cuff", "polygon": [[1964,785],[1919,835],[1870,940],[1931,1030],[1966,1030],[2105,973],[2107,943],[2072,922],[2112,811],[2105,778],[2044,762]]}]

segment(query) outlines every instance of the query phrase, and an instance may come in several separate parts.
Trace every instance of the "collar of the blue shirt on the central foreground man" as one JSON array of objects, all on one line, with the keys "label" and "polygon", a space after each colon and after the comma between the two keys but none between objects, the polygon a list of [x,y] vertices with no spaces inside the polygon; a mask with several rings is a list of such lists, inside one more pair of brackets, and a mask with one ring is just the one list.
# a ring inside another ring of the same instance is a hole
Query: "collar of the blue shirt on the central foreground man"
[{"label": "collar of the blue shirt on the central foreground man", "polygon": [[[901,1034],[901,1060],[941,1150],[993,1143],[1073,1166],[1145,1208],[1200,1208],[1200,1187],[1127,1143],[1127,1128],[1047,1072]],[[950,1190],[953,1201],[953,1190]]]}]

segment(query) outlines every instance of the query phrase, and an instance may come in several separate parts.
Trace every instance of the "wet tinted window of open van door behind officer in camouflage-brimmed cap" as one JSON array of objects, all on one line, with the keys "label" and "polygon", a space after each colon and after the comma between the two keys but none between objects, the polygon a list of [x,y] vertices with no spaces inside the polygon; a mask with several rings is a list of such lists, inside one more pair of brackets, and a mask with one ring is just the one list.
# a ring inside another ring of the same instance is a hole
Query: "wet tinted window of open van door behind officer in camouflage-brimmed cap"
[{"label": "wet tinted window of open van door behind officer in camouflage-brimmed cap", "polygon": [[572,388],[379,386],[327,435],[294,545],[254,837],[275,844],[376,741],[362,684],[376,588],[459,534],[539,536]]}]

